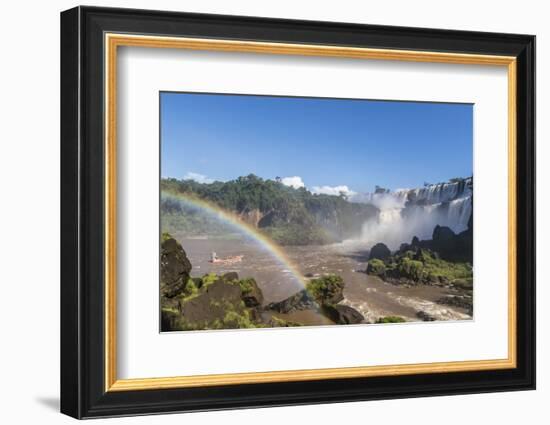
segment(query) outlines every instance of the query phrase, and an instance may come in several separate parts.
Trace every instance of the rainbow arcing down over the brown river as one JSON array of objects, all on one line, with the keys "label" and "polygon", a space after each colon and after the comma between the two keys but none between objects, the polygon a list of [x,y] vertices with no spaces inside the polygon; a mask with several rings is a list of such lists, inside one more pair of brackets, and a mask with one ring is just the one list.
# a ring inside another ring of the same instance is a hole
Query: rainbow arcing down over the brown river
[{"label": "rainbow arcing down over the brown river", "polygon": [[270,238],[262,234],[260,231],[258,231],[258,229],[256,229],[254,226],[245,223],[238,215],[223,208],[220,208],[219,206],[211,202],[205,201],[204,199],[199,199],[194,196],[172,191],[162,191],[161,197],[163,195],[176,198],[179,202],[188,207],[196,208],[205,212],[206,214],[210,214],[221,222],[228,224],[239,233],[242,233],[253,239],[262,248],[268,251],[283,268],[287,269],[298,281],[298,283],[302,285],[302,287],[306,287],[307,281],[298,270],[296,264],[286,255],[281,247],[273,242]]}]

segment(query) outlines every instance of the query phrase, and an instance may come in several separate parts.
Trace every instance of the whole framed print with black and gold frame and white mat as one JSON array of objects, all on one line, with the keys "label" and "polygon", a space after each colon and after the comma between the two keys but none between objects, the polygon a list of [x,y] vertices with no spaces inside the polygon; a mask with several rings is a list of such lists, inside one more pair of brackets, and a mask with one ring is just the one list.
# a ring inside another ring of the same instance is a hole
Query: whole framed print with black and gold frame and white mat
[{"label": "whole framed print with black and gold frame and white mat", "polygon": [[61,411],[535,387],[535,38],[61,14]]}]

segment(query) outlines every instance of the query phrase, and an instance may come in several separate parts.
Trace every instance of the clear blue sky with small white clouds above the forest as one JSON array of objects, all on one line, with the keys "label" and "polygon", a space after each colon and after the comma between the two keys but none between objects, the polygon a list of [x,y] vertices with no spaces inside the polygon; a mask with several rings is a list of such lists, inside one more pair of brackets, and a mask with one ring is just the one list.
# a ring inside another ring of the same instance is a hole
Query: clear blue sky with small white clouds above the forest
[{"label": "clear blue sky with small white clouds above the forest", "polygon": [[465,104],[161,93],[161,175],[418,187],[472,175],[472,119]]}]

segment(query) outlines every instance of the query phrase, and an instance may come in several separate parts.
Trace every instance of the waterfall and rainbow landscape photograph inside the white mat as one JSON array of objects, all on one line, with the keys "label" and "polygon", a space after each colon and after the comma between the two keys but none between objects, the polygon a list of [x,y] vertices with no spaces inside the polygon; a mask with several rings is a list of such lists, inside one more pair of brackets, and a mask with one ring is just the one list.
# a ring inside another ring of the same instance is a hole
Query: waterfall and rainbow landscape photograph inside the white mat
[{"label": "waterfall and rainbow landscape photograph inside the white mat", "polygon": [[159,96],[162,332],[473,319],[472,104]]}]

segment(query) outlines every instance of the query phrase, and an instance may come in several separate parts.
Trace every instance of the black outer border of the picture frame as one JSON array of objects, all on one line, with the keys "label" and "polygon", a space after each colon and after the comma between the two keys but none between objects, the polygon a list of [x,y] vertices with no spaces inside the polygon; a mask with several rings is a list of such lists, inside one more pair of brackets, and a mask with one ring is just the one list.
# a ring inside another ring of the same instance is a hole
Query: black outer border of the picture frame
[{"label": "black outer border of the picture frame", "polygon": [[[105,32],[517,58],[517,367],[105,392]],[[535,388],[535,37],[80,6],[61,13],[61,412],[75,418]]]}]

